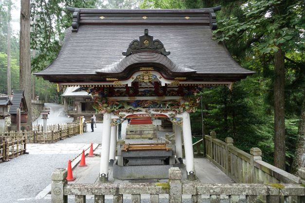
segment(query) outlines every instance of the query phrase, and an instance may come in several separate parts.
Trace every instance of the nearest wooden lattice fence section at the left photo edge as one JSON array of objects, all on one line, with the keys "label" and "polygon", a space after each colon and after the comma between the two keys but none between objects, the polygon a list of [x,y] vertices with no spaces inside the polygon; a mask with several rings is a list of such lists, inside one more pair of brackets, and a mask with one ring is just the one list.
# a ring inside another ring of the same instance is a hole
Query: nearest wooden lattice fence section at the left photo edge
[{"label": "nearest wooden lattice fence section at the left photo edge", "polygon": [[9,161],[26,153],[26,136],[16,134],[13,136],[0,135],[0,161]]}]

